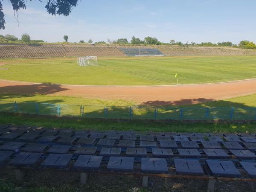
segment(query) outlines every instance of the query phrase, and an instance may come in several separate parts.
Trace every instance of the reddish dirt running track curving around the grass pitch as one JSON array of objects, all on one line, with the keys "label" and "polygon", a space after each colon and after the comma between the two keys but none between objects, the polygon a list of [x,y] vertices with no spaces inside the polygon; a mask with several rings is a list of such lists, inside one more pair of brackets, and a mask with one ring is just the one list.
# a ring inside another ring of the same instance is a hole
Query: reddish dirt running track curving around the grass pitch
[{"label": "reddish dirt running track curving around the grass pitch", "polygon": [[256,79],[177,86],[82,86],[0,80],[0,93],[126,99],[138,104],[186,105],[256,93]]}]

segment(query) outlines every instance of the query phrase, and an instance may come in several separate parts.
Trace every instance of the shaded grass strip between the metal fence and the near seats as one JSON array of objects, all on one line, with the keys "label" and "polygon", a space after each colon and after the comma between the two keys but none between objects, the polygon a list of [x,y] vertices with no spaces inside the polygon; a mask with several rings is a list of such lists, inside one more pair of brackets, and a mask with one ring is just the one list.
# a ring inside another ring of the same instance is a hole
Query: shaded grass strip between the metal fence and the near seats
[{"label": "shaded grass strip between the metal fence and the near seats", "polygon": [[244,133],[256,132],[256,122],[154,122],[119,121],[56,116],[32,116],[26,114],[0,113],[0,124],[29,125],[38,127],[73,128],[76,130],[116,131],[169,131],[201,133]]}]

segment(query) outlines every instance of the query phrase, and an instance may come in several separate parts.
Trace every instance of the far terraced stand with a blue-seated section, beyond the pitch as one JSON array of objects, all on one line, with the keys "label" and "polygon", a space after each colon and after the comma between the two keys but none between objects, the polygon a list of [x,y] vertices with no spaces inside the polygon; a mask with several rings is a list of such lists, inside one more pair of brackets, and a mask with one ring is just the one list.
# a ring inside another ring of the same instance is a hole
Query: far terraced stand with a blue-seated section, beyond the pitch
[{"label": "far terraced stand with a blue-seated section, beyond the pitch", "polygon": [[147,56],[147,55],[256,55],[256,50],[234,47],[121,46],[98,44],[0,44],[0,58]]}]

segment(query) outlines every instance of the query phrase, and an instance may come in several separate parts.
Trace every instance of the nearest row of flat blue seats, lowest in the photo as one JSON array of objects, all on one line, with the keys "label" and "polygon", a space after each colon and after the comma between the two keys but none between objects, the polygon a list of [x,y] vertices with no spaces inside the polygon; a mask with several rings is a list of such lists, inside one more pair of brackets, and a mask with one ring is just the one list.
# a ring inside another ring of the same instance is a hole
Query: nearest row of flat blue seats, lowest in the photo
[{"label": "nearest row of flat blue seats, lowest in the photo", "polygon": [[[168,174],[169,168],[175,167],[177,174],[204,175],[210,174],[218,177],[241,177],[239,169],[244,169],[249,177],[256,177],[255,162],[239,162],[236,168],[232,161],[174,159],[169,165],[164,158],[141,158],[141,162],[134,163],[134,157],[113,157],[104,160],[103,156],[80,155],[72,159],[71,154],[49,154],[44,157],[42,153],[21,152],[12,157],[12,152],[0,151],[0,164],[2,166],[51,168],[51,169],[77,169],[77,170],[104,170],[113,172],[136,172]],[[12,157],[12,158],[10,158]],[[107,166],[105,166],[107,165]],[[203,166],[202,166],[203,165]],[[210,172],[207,172],[207,168]]]}]

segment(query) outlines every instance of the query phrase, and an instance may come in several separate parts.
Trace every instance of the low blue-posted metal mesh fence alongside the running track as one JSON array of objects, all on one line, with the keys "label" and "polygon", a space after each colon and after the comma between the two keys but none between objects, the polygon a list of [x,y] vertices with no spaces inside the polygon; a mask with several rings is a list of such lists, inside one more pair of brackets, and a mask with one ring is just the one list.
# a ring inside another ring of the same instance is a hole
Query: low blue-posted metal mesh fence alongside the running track
[{"label": "low blue-posted metal mesh fence alongside the running track", "polygon": [[64,105],[40,102],[1,101],[0,111],[55,116],[83,116],[108,119],[256,119],[253,107],[141,107],[141,106],[93,106]]}]

